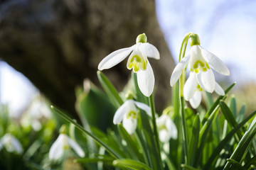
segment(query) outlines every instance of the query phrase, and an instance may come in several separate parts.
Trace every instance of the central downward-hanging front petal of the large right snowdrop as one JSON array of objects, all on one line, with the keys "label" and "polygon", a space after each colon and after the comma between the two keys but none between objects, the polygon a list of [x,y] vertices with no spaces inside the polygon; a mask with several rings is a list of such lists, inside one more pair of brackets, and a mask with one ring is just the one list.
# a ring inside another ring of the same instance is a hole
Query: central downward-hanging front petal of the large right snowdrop
[{"label": "central downward-hanging front petal of the large right snowdrop", "polygon": [[208,69],[206,72],[199,72],[196,74],[196,79],[203,90],[213,93],[215,88],[215,78],[212,69]]}]

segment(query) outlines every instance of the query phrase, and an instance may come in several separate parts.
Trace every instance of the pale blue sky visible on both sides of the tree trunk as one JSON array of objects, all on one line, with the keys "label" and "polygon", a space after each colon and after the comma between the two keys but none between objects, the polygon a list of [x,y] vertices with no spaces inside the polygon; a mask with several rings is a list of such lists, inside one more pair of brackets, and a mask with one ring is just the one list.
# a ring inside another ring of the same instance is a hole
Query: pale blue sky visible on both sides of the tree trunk
[{"label": "pale blue sky visible on both sides of the tree trunk", "polygon": [[[156,12],[176,62],[183,36],[193,32],[202,47],[228,65],[231,81],[238,86],[256,82],[256,1],[156,0]],[[39,92],[26,77],[0,62],[0,93],[0,101],[9,103],[16,115]]]}]

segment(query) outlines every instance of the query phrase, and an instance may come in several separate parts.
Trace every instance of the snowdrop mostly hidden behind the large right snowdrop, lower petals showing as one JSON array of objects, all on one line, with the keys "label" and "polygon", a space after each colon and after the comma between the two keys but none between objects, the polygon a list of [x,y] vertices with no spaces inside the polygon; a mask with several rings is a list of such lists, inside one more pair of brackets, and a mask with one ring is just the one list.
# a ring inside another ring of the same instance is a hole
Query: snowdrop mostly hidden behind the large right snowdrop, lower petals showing
[{"label": "snowdrop mostly hidden behind the large right snowdrop, lower petals showing", "polygon": [[[198,108],[199,104],[201,103],[202,91],[203,89],[198,84],[195,73],[191,72],[184,85],[183,94],[184,94],[185,100],[191,103],[192,108]],[[221,86],[217,82],[215,82],[214,91],[220,96],[225,95],[225,91],[221,88]]]}]

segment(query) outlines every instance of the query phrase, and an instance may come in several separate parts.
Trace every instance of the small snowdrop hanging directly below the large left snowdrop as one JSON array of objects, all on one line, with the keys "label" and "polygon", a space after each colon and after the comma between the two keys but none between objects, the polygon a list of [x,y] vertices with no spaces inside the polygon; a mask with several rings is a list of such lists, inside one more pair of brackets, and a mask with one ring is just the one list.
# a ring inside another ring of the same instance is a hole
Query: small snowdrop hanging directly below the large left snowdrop
[{"label": "small snowdrop hanging directly below the large left snowdrop", "polygon": [[132,135],[132,133],[137,128],[137,118],[139,111],[138,108],[143,109],[146,113],[151,116],[151,108],[144,103],[140,103],[133,100],[125,101],[122,106],[120,106],[116,113],[114,113],[113,123],[116,125],[122,121],[122,124],[127,130],[127,132]]}]

